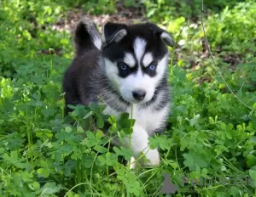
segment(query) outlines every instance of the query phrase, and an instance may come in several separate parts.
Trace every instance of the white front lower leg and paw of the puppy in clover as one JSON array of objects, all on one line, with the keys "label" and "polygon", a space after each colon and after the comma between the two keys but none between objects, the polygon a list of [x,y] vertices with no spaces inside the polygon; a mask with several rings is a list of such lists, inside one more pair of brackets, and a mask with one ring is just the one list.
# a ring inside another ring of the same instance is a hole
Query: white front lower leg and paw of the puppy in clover
[{"label": "white front lower leg and paw of the puppy in clover", "polygon": [[[126,139],[126,144],[129,147],[130,140]],[[136,157],[139,156],[141,152],[149,160],[146,166],[158,166],[160,164],[160,155],[157,149],[149,149],[148,146],[148,132],[136,124],[133,126],[133,132],[131,134],[131,150]]]}]

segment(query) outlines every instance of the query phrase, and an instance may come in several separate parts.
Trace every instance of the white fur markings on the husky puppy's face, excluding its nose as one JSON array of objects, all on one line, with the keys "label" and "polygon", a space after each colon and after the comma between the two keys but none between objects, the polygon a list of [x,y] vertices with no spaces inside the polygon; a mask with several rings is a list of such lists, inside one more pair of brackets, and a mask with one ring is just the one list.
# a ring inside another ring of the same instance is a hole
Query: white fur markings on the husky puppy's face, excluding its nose
[{"label": "white fur markings on the husky puppy's face, excluding its nose", "polygon": [[[145,49],[146,42],[141,38],[137,38],[135,42],[135,52],[137,57],[143,57],[142,51]],[[149,54],[147,55],[149,59]],[[130,54],[125,54],[125,59],[129,61],[135,61],[131,59]],[[132,104],[143,104],[151,100],[154,96],[155,87],[158,86],[160,80],[164,76],[167,67],[168,53],[158,62],[156,67],[156,76],[151,77],[144,74],[141,66],[139,66],[136,73],[131,73],[131,75],[125,78],[119,76],[119,69],[116,62],[112,62],[110,59],[104,59],[106,75],[110,82],[112,82],[113,87],[120,93],[120,96],[126,101]],[[148,61],[149,62],[149,61]],[[128,64],[129,65],[129,64]],[[138,101],[133,97],[134,91],[143,90],[146,95],[143,100]]]}]

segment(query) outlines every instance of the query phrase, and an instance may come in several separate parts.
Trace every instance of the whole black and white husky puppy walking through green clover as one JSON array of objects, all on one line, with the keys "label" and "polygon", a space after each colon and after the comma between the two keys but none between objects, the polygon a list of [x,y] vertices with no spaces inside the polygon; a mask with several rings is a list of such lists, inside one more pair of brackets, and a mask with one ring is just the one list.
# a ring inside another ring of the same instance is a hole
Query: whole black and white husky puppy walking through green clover
[{"label": "whole black and white husky puppy walking through green clover", "polygon": [[[108,22],[102,37],[92,20],[80,20],[74,31],[75,58],[64,76],[66,104],[99,103],[107,105],[104,114],[131,113],[135,125],[131,149],[141,152],[149,162],[160,164],[157,149],[148,148],[148,137],[163,131],[170,109],[167,84],[172,37],[157,25],[124,25]],[[67,112],[70,109],[67,108]],[[129,147],[130,139],[126,139]]]}]

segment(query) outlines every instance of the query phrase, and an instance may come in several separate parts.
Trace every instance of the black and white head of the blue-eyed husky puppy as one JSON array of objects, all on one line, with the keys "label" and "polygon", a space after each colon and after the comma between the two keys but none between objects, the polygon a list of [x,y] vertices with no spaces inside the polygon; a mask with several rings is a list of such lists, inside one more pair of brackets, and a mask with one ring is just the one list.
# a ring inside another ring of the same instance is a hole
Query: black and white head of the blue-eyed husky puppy
[{"label": "black and white head of the blue-eyed husky puppy", "polygon": [[172,37],[151,23],[107,23],[102,42],[104,69],[120,96],[132,104],[151,100],[166,76],[166,45],[173,47]]}]

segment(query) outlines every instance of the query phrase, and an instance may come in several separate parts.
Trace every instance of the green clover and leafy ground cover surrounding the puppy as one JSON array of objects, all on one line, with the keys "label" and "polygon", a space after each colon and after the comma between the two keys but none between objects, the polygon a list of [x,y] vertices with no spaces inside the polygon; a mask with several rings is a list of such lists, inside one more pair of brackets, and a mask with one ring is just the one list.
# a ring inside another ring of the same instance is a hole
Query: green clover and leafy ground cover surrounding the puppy
[{"label": "green clover and leafy ground cover surrounding the puppy", "polygon": [[[128,114],[118,120],[102,115],[104,104],[91,103],[70,106],[73,112],[64,116],[61,81],[73,49],[70,34],[53,31],[50,25],[67,17],[73,1],[1,3],[1,196],[163,196],[165,173],[178,186],[172,196],[255,195],[255,3],[228,1],[226,8],[227,2],[205,2],[214,12],[224,8],[205,20],[207,37],[220,73],[250,110],[230,93],[212,65],[201,42],[200,21],[185,25],[180,16],[198,15],[201,1],[190,6],[184,1],[144,1],[148,16],[150,8],[159,8],[152,11],[151,20],[163,21],[177,46],[171,51],[170,124],[163,135],[148,138],[151,149],[160,149],[161,166],[136,170],[126,165],[131,149],[110,145],[113,138],[123,142],[132,132],[135,120]],[[75,5],[102,14],[114,11],[113,3]],[[136,1],[126,6],[134,3],[141,6]],[[173,8],[178,11],[169,13]],[[61,55],[54,53],[58,50]],[[226,60],[230,57],[234,62]],[[183,183],[183,177],[189,177],[189,183]],[[192,184],[193,178],[207,177],[222,179]],[[245,177],[250,181],[244,182]],[[228,178],[240,182],[232,185]]]}]

